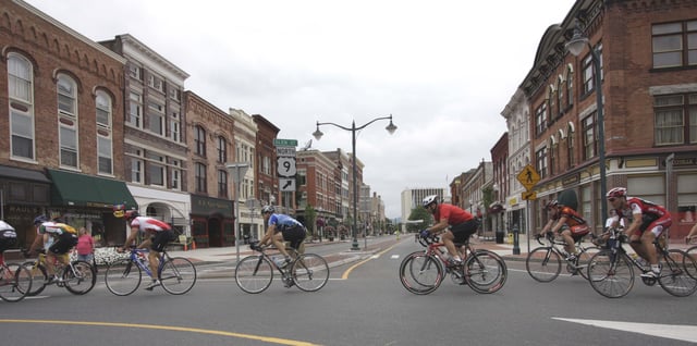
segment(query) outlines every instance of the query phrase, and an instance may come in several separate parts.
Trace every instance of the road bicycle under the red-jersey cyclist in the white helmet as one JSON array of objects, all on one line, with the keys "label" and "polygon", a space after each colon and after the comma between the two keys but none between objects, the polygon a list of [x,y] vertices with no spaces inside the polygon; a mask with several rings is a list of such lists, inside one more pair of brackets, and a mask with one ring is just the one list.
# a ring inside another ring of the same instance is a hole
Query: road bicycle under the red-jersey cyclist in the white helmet
[{"label": "road bicycle under the red-jersey cyclist in the white helmet", "polygon": [[[462,265],[449,265],[440,237],[431,235],[416,240],[425,250],[407,255],[400,264],[400,281],[406,291],[427,295],[436,291],[445,275],[458,285],[468,285],[480,294],[491,294],[503,287],[508,277],[505,261],[496,252],[475,249],[469,240],[455,243],[465,256]],[[464,250],[463,250],[464,249]]]}]

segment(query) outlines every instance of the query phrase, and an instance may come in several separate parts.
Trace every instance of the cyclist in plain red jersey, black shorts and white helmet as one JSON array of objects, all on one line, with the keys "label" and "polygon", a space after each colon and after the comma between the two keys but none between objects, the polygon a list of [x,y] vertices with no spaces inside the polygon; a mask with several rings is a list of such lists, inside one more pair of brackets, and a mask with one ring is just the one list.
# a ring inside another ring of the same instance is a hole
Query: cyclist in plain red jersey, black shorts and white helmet
[{"label": "cyclist in plain red jersey, black shorts and white helmet", "polygon": [[[469,236],[477,232],[479,222],[467,211],[449,203],[438,203],[438,195],[431,195],[421,201],[424,209],[433,214],[435,225],[420,232],[421,237],[428,237],[431,233],[438,234],[445,231],[442,236],[443,244],[450,254],[450,265],[462,264],[460,251],[455,243],[466,243]],[[448,230],[450,227],[450,230]]]}]

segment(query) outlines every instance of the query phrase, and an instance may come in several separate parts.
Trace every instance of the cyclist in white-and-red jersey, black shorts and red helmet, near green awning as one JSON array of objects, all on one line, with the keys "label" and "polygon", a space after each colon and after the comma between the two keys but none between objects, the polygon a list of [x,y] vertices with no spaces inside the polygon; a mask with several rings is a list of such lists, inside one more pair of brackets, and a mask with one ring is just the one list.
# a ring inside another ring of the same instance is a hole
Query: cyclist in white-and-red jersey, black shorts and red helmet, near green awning
[{"label": "cyclist in white-and-red jersey, black shorts and red helmet, near green awning", "polygon": [[160,252],[164,250],[164,247],[172,242],[174,238],[174,232],[172,227],[163,221],[157,220],[155,218],[149,217],[140,217],[140,214],[136,210],[129,210],[125,212],[126,223],[131,227],[131,234],[129,234],[129,238],[123,247],[120,249],[121,252],[125,251],[125,248],[133,244],[135,237],[139,233],[146,234],[145,239],[138,248],[145,249],[150,248],[148,252],[148,265],[150,267],[150,272],[152,273],[152,282],[145,287],[147,291],[152,291],[152,288],[161,285],[160,277],[158,273],[158,269],[160,267]]}]

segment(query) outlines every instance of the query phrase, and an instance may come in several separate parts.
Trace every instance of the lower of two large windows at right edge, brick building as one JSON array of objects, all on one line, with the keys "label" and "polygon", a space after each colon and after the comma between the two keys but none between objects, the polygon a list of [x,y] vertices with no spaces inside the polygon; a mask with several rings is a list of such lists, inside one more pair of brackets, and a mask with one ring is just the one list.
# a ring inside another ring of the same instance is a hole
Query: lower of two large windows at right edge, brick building
[{"label": "lower of two large windows at right edge, brick building", "polygon": [[653,114],[657,146],[697,144],[697,94],[657,96]]}]

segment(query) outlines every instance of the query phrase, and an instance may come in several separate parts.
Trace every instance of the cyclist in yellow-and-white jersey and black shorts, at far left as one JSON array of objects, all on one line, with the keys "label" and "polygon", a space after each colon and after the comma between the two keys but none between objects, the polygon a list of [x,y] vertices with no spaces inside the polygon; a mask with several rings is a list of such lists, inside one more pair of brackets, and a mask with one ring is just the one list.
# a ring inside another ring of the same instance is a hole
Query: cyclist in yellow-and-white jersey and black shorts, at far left
[{"label": "cyclist in yellow-and-white jersey and black shorts, at far left", "polygon": [[[53,263],[58,260],[63,265],[70,264],[70,256],[66,256],[66,254],[71,248],[77,245],[77,230],[60,219],[53,219],[52,221],[48,220],[49,219],[45,215],[38,215],[34,219],[34,224],[37,226],[37,236],[44,237],[45,235],[48,235],[52,238],[52,244],[48,248],[45,247],[46,271],[49,277],[47,284],[52,284],[62,280],[56,274],[56,267]],[[35,248],[32,247],[29,252],[34,249]]]}]

